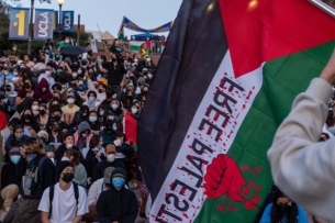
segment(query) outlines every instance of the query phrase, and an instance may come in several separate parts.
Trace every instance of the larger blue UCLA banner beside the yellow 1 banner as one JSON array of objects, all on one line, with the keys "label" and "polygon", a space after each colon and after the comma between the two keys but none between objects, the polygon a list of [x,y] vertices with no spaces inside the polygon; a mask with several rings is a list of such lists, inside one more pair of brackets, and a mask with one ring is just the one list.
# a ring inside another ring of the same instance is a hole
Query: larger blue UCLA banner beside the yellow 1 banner
[{"label": "larger blue UCLA banner beside the yellow 1 banner", "polygon": [[34,22],[34,41],[53,38],[54,10],[36,9]]}]

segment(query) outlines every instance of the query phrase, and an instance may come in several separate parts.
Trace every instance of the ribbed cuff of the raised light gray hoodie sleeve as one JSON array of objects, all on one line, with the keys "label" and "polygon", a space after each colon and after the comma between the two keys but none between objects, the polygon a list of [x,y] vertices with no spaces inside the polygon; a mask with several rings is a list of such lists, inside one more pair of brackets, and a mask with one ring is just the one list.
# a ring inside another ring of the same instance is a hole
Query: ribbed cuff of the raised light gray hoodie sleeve
[{"label": "ribbed cuff of the raised light gray hoodie sleeve", "polygon": [[306,92],[312,93],[325,103],[328,102],[330,98],[334,93],[332,86],[322,78],[314,78]]}]

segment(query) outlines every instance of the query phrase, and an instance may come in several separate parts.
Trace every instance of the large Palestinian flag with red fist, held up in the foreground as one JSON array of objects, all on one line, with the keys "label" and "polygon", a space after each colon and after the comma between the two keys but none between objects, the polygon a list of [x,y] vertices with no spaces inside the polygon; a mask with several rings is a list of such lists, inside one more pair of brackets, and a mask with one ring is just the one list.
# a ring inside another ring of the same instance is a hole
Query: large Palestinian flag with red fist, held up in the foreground
[{"label": "large Palestinian flag with red fist, held up in the foreground", "polygon": [[334,27],[305,0],[183,1],[138,123],[150,222],[255,220],[272,186],[267,149]]}]

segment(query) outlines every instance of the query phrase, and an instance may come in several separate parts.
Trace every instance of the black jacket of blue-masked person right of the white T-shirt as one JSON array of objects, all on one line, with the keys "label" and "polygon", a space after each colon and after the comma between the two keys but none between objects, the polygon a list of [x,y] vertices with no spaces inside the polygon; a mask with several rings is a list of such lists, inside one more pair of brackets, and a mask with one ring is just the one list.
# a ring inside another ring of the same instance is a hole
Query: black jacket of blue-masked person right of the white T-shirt
[{"label": "black jacket of blue-masked person right of the white T-shirt", "polygon": [[137,197],[124,186],[120,191],[112,187],[99,196],[97,214],[100,223],[134,223],[138,214]]}]

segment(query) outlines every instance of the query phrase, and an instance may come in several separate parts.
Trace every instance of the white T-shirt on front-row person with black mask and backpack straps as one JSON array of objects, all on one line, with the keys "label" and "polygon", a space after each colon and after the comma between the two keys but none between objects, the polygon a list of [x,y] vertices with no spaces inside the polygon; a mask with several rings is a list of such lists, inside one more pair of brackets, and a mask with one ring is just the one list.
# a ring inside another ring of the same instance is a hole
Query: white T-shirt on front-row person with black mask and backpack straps
[{"label": "white T-shirt on front-row person with black mask and backpack straps", "polygon": [[[49,189],[44,190],[38,211],[49,212]],[[71,187],[66,191],[59,188],[59,182],[55,185],[51,223],[71,223],[77,215],[88,213],[86,190],[80,186],[78,186],[78,190],[79,199],[77,211],[74,185],[71,183]]]}]

